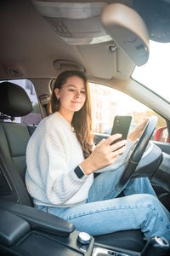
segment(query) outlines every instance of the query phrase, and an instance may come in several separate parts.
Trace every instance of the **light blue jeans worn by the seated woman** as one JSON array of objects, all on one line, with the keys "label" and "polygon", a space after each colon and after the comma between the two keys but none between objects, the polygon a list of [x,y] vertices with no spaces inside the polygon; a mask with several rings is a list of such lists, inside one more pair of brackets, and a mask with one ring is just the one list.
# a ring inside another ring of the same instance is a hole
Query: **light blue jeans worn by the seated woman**
[{"label": "light blue jeans worn by the seated woman", "polygon": [[38,209],[70,221],[79,231],[97,236],[119,230],[142,230],[147,240],[162,236],[170,242],[170,213],[156,198],[146,177],[127,183],[123,193],[115,189],[124,166],[101,173],[94,179],[88,200],[75,207],[43,207]]}]

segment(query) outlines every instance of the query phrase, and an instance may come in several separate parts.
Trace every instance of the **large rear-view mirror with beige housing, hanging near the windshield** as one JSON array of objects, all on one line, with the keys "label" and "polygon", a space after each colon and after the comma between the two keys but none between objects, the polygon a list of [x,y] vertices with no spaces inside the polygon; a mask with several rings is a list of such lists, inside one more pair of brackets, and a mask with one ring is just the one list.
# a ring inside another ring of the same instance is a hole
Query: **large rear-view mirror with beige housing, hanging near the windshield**
[{"label": "large rear-view mirror with beige housing, hanging near the windshield", "polygon": [[148,61],[149,33],[137,12],[122,3],[112,3],[103,9],[101,23],[137,66]]}]

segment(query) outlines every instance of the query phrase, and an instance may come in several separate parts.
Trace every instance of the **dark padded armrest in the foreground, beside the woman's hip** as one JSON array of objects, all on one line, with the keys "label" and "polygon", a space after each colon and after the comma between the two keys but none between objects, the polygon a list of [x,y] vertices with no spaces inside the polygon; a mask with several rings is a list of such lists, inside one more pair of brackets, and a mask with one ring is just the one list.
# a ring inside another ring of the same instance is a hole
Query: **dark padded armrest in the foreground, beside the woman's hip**
[{"label": "dark padded armrest in the foreground, beside the woman's hip", "polygon": [[63,218],[12,201],[0,200],[0,209],[24,218],[34,230],[41,230],[59,236],[69,236],[75,230],[75,226]]}]

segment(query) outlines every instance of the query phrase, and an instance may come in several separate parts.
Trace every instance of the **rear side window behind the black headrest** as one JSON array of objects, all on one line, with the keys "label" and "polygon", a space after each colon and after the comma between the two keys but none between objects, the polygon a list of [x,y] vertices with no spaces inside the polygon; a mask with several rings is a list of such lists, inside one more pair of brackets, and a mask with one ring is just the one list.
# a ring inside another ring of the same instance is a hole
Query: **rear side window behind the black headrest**
[{"label": "rear side window behind the black headrest", "polygon": [[[38,125],[42,119],[42,115],[40,113],[40,109],[38,106],[37,94],[34,88],[34,84],[32,84],[31,80],[17,79],[17,80],[4,80],[4,81],[5,82],[8,81],[8,82],[20,85],[20,87],[26,90],[26,93],[29,96],[32,103],[32,108],[33,108],[32,112],[22,117],[15,117],[14,122],[22,123],[26,125]],[[4,81],[0,81],[0,83]]]}]

